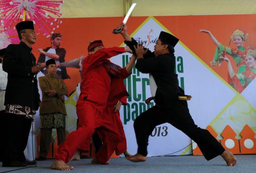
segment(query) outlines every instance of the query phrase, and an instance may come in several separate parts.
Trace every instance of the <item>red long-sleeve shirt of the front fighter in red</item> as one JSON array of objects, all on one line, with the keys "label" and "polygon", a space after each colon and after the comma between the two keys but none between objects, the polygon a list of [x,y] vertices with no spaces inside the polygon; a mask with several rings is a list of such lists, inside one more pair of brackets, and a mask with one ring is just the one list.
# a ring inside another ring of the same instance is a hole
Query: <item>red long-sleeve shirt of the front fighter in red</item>
[{"label": "red long-sleeve shirt of the front fighter in red", "polygon": [[[108,58],[122,53],[125,53],[124,47],[103,48],[83,60],[83,80],[77,106],[89,102],[99,111],[106,108],[110,92],[110,76],[103,63],[108,61]],[[120,74],[121,76],[129,75],[125,68],[120,69]]]}]

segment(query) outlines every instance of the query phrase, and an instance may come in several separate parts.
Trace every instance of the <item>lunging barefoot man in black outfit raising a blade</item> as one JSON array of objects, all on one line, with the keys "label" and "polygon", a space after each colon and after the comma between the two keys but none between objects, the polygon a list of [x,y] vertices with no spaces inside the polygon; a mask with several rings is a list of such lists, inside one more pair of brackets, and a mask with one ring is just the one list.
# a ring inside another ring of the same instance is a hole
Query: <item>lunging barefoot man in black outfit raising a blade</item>
[{"label": "lunging barefoot man in black outfit raising a blade", "polygon": [[121,27],[125,43],[137,55],[136,68],[142,73],[151,73],[157,86],[154,98],[156,105],[141,113],[134,122],[138,150],[137,154],[128,157],[128,160],[146,161],[149,135],[155,126],[168,122],[195,141],[207,160],[221,155],[227,165],[234,166],[237,162],[235,156],[225,150],[208,130],[195,125],[187,101],[181,99],[185,94],[178,85],[178,75],[174,70],[174,46],[179,39],[162,31],[152,53],[137,45],[137,42],[128,35],[126,25]]}]

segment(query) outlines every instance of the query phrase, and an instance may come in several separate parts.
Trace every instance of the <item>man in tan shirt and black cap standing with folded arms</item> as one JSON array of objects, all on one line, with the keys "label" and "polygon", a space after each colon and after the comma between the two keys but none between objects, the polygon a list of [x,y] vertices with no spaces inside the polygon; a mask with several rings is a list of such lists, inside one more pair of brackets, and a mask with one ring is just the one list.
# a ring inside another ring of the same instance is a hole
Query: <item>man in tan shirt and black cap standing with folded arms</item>
[{"label": "man in tan shirt and black cap standing with folded arms", "polygon": [[46,70],[47,75],[39,77],[39,86],[43,96],[39,109],[41,137],[38,161],[46,159],[53,128],[57,130],[58,145],[65,140],[64,95],[67,94],[67,87],[63,79],[56,75],[57,67],[54,59],[46,61]]}]

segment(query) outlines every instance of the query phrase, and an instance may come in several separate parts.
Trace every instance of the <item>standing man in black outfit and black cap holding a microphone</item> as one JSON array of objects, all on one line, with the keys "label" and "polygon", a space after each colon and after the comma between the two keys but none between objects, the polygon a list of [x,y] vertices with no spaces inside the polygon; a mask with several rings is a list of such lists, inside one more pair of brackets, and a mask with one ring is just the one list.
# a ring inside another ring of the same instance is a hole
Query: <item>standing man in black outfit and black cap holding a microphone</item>
[{"label": "standing man in black outfit and black cap holding a microphone", "polygon": [[40,67],[31,53],[31,46],[36,43],[33,22],[20,22],[16,29],[21,42],[9,45],[3,59],[3,70],[8,73],[4,102],[7,129],[3,167],[27,166],[23,152],[40,102],[36,77]]}]

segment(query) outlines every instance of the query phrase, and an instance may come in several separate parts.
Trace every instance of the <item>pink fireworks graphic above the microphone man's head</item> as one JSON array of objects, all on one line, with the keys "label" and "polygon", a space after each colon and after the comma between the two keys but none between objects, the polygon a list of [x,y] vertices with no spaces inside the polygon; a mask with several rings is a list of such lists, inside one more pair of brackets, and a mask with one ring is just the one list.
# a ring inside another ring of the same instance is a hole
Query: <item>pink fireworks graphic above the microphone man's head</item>
[{"label": "pink fireworks graphic above the microphone man's head", "polygon": [[63,3],[64,0],[0,0],[1,27],[3,30],[13,29],[25,18],[34,22],[37,34],[49,37],[62,23],[59,18]]}]

